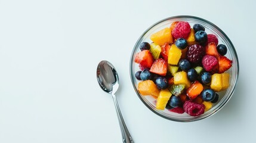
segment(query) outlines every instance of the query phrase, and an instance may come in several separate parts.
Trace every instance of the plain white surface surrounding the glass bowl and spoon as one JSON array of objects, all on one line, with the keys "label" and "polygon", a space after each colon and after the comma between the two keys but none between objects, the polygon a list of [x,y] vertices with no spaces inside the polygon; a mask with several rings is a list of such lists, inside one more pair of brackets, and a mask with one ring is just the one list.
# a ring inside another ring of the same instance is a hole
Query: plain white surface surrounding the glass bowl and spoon
[{"label": "plain white surface surrounding the glass bowl and spoon", "polygon": [[[96,67],[118,70],[119,105],[134,142],[255,142],[255,1],[0,0],[0,142],[122,142]],[[220,27],[238,52],[235,94],[197,122],[163,119],[137,97],[129,58],[139,36],[174,15]]]}]

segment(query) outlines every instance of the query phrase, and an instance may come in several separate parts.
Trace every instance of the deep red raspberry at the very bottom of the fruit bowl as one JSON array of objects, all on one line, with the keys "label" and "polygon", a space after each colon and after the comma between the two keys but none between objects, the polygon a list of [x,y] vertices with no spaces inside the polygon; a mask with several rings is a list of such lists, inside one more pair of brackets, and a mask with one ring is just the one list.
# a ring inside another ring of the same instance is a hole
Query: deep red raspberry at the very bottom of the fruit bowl
[{"label": "deep red raspberry at the very bottom of the fruit bowl", "polygon": [[205,105],[186,101],[183,104],[183,109],[190,116],[199,116],[205,112]]}]

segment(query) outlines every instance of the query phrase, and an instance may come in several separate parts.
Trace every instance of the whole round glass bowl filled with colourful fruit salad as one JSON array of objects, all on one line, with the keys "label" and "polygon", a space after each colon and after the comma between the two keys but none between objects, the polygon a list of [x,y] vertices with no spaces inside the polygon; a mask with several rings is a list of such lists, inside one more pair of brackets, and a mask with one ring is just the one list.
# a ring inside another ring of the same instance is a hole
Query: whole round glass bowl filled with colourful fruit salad
[{"label": "whole round glass bowl filled with colourful fruit salad", "polygon": [[239,70],[224,32],[192,16],[166,18],[147,29],[130,63],[141,101],[159,116],[182,122],[220,110],[233,94]]}]

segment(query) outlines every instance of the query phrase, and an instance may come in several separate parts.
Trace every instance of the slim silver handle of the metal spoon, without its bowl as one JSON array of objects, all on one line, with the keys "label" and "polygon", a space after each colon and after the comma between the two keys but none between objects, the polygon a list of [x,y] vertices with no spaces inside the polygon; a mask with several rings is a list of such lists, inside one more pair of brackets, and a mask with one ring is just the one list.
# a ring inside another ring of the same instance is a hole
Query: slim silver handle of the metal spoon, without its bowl
[{"label": "slim silver handle of the metal spoon, without its bowl", "polygon": [[119,105],[118,105],[118,100],[116,100],[116,95],[115,94],[111,94],[113,101],[115,103],[115,107],[116,107],[116,114],[118,114],[118,121],[119,121],[119,125],[121,128],[121,132],[122,132],[122,139],[124,143],[134,143],[132,141],[131,135],[129,134],[129,131],[127,129],[127,126],[125,125],[125,121],[122,117]]}]

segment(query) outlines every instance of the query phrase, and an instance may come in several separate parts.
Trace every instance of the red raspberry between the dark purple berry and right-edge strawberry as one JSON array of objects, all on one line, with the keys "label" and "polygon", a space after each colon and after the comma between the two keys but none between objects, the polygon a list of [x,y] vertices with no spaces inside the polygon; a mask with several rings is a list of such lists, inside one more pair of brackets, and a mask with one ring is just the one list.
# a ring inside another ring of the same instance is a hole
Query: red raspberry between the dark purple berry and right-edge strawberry
[{"label": "red raspberry between the dark purple berry and right-edge strawberry", "polygon": [[218,60],[212,55],[205,55],[202,59],[203,69],[212,71],[218,66]]}]

